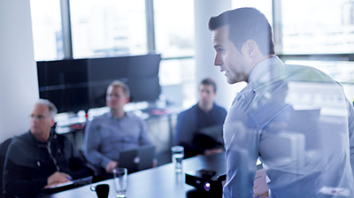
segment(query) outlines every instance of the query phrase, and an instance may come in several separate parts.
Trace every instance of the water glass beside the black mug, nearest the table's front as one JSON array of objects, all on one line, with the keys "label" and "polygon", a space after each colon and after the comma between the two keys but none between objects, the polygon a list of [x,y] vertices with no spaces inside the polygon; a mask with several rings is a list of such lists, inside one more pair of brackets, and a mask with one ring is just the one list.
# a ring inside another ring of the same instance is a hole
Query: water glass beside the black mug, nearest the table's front
[{"label": "water glass beside the black mug, nearest the table's front", "polygon": [[114,184],[116,187],[116,196],[118,198],[127,197],[127,169],[126,168],[114,168]]}]

